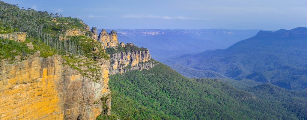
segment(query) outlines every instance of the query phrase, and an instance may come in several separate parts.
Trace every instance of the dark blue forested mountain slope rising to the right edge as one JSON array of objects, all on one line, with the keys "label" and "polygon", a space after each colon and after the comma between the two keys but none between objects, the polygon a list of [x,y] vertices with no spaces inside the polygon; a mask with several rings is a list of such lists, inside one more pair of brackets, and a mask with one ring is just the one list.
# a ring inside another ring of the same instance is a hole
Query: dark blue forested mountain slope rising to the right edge
[{"label": "dark blue forested mountain slope rising to the right edge", "polygon": [[[254,37],[229,48],[185,55],[165,63],[187,76],[194,73],[185,72],[182,66],[205,74],[214,71],[231,79],[246,78],[301,90],[307,88],[306,36],[307,28],[304,27],[275,32],[259,31]],[[205,75],[194,75],[201,76]]]}]

